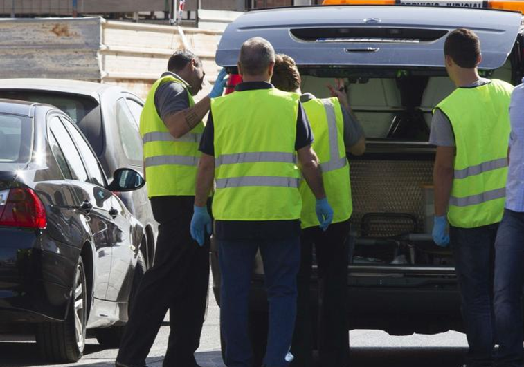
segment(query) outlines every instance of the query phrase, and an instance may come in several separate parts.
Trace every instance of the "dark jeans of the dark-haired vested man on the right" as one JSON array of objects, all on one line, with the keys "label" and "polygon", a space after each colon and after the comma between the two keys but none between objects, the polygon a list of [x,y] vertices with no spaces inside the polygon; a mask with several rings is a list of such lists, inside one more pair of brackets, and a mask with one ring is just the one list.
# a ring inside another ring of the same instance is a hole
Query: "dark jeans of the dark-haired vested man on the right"
[{"label": "dark jeans of the dark-haired vested man on the right", "polygon": [[451,227],[462,319],[469,344],[467,366],[492,366],[494,245],[498,223],[477,228]]}]

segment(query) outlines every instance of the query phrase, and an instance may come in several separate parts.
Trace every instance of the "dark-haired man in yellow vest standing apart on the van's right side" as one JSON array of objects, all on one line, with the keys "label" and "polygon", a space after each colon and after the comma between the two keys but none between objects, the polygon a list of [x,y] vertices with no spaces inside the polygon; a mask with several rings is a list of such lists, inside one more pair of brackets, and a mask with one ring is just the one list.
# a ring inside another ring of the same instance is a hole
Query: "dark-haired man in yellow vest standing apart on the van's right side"
[{"label": "dark-haired man in yellow vest standing apart on the van's right side", "polygon": [[446,247],[451,238],[453,245],[467,366],[492,366],[494,243],[505,201],[513,86],[478,75],[480,41],[471,30],[451,32],[444,55],[457,88],[437,105],[431,124],[430,142],[437,146],[433,240]]}]

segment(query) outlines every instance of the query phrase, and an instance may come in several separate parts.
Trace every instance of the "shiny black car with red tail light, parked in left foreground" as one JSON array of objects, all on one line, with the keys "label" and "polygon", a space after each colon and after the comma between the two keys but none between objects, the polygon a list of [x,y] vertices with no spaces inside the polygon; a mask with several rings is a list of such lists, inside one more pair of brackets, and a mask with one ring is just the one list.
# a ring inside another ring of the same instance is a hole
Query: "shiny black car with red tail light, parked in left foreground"
[{"label": "shiny black car with red tail light, parked in left foreground", "polygon": [[145,272],[144,227],[110,185],[71,119],[45,104],[0,100],[0,326],[33,326],[51,361],[82,357],[86,330],[118,344]]}]

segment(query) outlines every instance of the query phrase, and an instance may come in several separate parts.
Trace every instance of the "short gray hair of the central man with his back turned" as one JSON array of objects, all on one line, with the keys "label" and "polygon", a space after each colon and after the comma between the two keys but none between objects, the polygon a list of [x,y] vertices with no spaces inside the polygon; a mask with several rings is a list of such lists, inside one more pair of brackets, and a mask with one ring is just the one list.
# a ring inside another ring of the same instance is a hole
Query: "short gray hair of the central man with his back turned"
[{"label": "short gray hair of the central man with his back turned", "polygon": [[247,75],[261,75],[275,62],[275,49],[262,37],[250,38],[242,44],[238,62]]}]

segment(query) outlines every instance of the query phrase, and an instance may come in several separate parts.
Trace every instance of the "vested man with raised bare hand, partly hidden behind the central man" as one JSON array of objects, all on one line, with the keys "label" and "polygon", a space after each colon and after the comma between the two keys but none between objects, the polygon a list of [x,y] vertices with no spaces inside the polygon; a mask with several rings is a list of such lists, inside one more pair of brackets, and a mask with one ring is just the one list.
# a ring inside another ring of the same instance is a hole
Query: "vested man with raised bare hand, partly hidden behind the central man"
[{"label": "vested man with raised bare hand, partly hidden behind the central man", "polygon": [[[329,85],[331,98],[316,98],[300,91],[301,77],[295,61],[278,54],[271,82],[281,91],[296,92],[315,135],[313,149],[318,153],[323,182],[334,209],[332,225],[325,231],[318,227],[314,196],[305,182],[302,196],[301,261],[298,272],[297,320],[291,352],[292,366],[313,365],[313,325],[309,285],[313,246],[318,263],[318,352],[322,366],[347,367],[350,341],[347,325],[347,236],[352,214],[350,167],[346,151],[360,156],[365,151],[365,138],[359,122],[350,114],[343,80],[338,88]],[[316,318],[315,318],[316,319]]]}]

